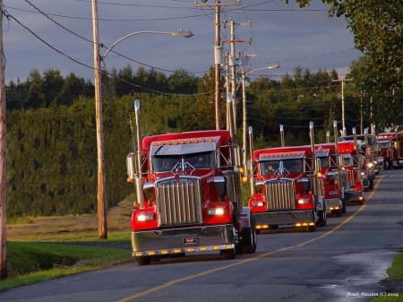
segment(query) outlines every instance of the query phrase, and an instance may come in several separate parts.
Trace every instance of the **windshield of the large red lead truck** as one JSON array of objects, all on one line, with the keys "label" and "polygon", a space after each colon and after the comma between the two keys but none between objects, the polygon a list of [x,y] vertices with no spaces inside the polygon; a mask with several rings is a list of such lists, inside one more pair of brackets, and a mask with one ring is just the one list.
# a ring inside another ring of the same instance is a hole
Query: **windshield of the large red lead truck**
[{"label": "windshield of the large red lead truck", "polygon": [[155,172],[214,168],[214,154],[214,151],[207,151],[182,155],[154,155],[152,157],[152,167]]}]

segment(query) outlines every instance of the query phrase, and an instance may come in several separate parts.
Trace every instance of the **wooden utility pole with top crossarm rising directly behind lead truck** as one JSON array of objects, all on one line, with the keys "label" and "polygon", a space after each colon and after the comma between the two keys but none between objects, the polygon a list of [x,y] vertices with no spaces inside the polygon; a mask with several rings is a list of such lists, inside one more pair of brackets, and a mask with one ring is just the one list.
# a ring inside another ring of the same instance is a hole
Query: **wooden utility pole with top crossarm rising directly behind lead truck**
[{"label": "wooden utility pole with top crossarm rising directly behind lead truck", "polygon": [[234,5],[241,5],[241,3],[237,2],[234,4],[221,4],[219,0],[216,0],[214,4],[207,4],[207,0],[202,1],[203,4],[198,4],[195,3],[194,7],[214,7],[215,8],[215,30],[216,30],[216,37],[214,41],[214,63],[216,65],[216,73],[215,73],[215,107],[216,107],[216,129],[220,130],[221,129],[221,122],[220,122],[220,102],[219,102],[219,97],[220,97],[220,92],[219,92],[219,86],[220,86],[220,77],[221,77],[221,39],[220,39],[220,10],[221,6],[234,6]]}]

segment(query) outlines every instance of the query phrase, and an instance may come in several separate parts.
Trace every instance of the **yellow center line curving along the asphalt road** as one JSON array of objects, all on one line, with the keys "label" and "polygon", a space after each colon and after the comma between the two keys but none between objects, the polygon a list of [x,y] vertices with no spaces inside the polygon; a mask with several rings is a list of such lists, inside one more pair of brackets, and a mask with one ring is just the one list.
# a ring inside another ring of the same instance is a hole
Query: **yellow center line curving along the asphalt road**
[{"label": "yellow center line curving along the asphalt road", "polygon": [[[383,177],[381,177],[381,178],[383,178]],[[231,268],[231,267],[234,267],[234,266],[242,265],[242,264],[244,264],[244,263],[250,263],[250,262],[252,262],[252,261],[254,261],[254,260],[256,260],[256,259],[264,258],[264,257],[270,256],[270,255],[276,255],[276,254],[279,254],[279,253],[281,253],[281,252],[285,252],[285,251],[287,251],[287,250],[289,250],[289,249],[293,249],[293,248],[296,248],[296,247],[306,246],[306,245],[308,245],[308,244],[310,244],[310,243],[313,243],[314,241],[317,241],[317,240],[319,240],[319,239],[322,239],[323,237],[330,236],[330,234],[332,234],[333,232],[335,232],[336,230],[340,229],[342,226],[344,226],[345,224],[347,224],[348,221],[353,220],[353,219],[356,217],[356,215],[358,215],[361,211],[363,211],[363,210],[366,208],[366,204],[365,204],[365,203],[367,203],[367,200],[368,200],[368,199],[371,199],[371,197],[373,196],[373,192],[374,192],[375,189],[379,186],[379,184],[380,184],[380,182],[377,182],[377,183],[375,184],[375,186],[373,187],[373,191],[371,192],[371,194],[368,195],[368,198],[365,199],[364,204],[362,204],[362,205],[358,208],[358,210],[357,210],[353,215],[347,217],[347,219],[345,219],[345,220],[343,220],[342,222],[340,222],[339,225],[337,225],[336,227],[334,227],[334,228],[330,229],[329,231],[325,232],[325,233],[322,234],[321,236],[314,237],[314,238],[312,238],[312,239],[306,240],[306,241],[304,241],[303,243],[300,243],[300,244],[295,245],[295,246],[286,246],[286,247],[282,247],[282,248],[279,248],[279,249],[277,249],[277,250],[275,250],[275,251],[263,253],[263,254],[261,254],[261,255],[256,255],[256,256],[254,256],[254,257],[247,258],[247,259],[244,259],[244,260],[240,260],[240,261],[237,261],[237,262],[235,262],[235,263],[230,263],[230,264],[227,264],[227,265],[223,265],[223,266],[220,266],[220,267],[215,268],[215,269],[212,269],[212,270],[208,270],[208,271],[204,271],[204,272],[195,273],[195,274],[193,274],[193,275],[190,275],[190,276],[187,276],[187,277],[184,277],[184,278],[179,278],[179,279],[176,279],[176,280],[171,280],[171,281],[168,281],[168,282],[166,282],[166,283],[164,283],[164,284],[161,284],[161,285],[159,285],[159,286],[156,286],[156,287],[153,287],[153,288],[146,289],[146,290],[143,290],[143,291],[141,291],[141,292],[138,292],[138,293],[136,293],[136,294],[134,294],[134,295],[132,295],[132,296],[128,296],[128,297],[125,297],[125,298],[121,298],[121,299],[119,299],[119,300],[116,300],[116,302],[128,302],[128,301],[132,301],[132,300],[135,299],[135,298],[140,298],[140,297],[146,296],[146,295],[148,295],[148,294],[150,294],[150,293],[153,293],[153,292],[155,292],[155,291],[159,291],[160,289],[167,289],[168,287],[173,286],[173,285],[175,285],[175,284],[177,284],[177,283],[180,283],[180,282],[182,282],[182,281],[193,280],[193,279],[199,278],[199,277],[201,277],[201,276],[208,275],[208,274],[213,273],[213,272],[224,271],[224,270],[227,270],[227,269],[229,269],[229,268]]]}]

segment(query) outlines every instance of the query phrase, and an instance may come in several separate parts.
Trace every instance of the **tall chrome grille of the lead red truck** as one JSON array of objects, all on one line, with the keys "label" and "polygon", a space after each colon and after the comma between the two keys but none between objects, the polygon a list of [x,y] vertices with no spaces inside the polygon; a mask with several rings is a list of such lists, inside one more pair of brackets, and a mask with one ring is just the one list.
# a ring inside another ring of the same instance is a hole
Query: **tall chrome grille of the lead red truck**
[{"label": "tall chrome grille of the lead red truck", "polygon": [[188,226],[202,223],[201,182],[181,177],[159,181],[156,188],[159,227]]}]

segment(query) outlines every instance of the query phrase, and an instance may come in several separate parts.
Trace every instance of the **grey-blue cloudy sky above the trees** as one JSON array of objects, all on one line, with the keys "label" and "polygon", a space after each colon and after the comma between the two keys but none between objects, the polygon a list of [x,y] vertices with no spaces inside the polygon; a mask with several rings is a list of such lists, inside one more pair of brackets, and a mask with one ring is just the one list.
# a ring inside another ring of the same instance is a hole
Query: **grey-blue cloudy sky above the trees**
[{"label": "grey-blue cloudy sky above the trees", "polygon": [[[328,6],[319,0],[301,9],[294,0],[221,1],[220,39],[230,38],[225,22],[236,24],[236,54],[249,56],[244,71],[253,76],[280,80],[296,67],[336,69],[345,76],[361,53],[344,18],[329,18]],[[102,67],[107,71],[131,66],[170,73],[183,69],[201,77],[214,66],[215,13],[210,6],[196,7],[193,0],[97,1],[100,55],[108,52]],[[201,0],[198,2],[201,4]],[[5,83],[26,81],[32,71],[49,69],[63,76],[74,73],[93,82],[91,0],[4,0],[3,43]],[[231,5],[229,5],[231,4]],[[172,37],[169,32],[191,30],[193,37]],[[152,33],[139,33],[152,31]],[[222,54],[229,43],[222,45]],[[277,69],[255,71],[269,65]]]}]

